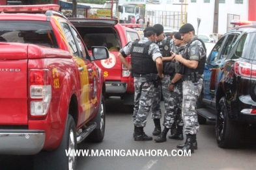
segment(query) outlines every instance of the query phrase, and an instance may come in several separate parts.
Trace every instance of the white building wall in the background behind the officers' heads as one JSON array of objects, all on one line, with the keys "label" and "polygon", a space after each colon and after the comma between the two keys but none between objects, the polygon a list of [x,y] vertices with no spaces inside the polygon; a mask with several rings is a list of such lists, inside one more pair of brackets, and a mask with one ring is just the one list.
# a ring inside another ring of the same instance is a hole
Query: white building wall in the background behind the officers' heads
[{"label": "white building wall in the background behind the officers' heads", "polygon": [[[199,32],[212,34],[214,27],[215,0],[183,0],[182,7],[182,0],[172,0],[172,4],[164,3],[165,1],[167,0],[162,0],[162,3],[158,5],[146,4],[146,11],[186,11],[188,17],[187,23],[191,23],[195,27],[195,32],[197,32],[197,18],[200,18]],[[224,34],[230,29],[229,27],[232,27],[232,25],[227,23],[231,19],[256,20],[255,7],[256,0],[219,0],[218,34]]]}]

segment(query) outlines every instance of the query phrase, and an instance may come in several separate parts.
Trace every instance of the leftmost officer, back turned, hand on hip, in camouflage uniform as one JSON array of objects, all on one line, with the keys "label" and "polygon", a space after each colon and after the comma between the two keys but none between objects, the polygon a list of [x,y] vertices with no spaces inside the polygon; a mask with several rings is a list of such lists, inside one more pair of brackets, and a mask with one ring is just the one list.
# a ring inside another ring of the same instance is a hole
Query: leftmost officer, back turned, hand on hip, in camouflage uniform
[{"label": "leftmost officer, back turned, hand on hip, in camouflage uniform", "polygon": [[[132,71],[134,77],[134,140],[149,141],[152,137],[145,134],[143,128],[147,123],[153,99],[154,84],[158,77],[164,78],[162,73],[162,55],[158,45],[153,43],[156,39],[156,29],[147,27],[144,37],[128,43],[119,51],[119,59],[124,66]],[[132,66],[125,57],[132,56]]]}]

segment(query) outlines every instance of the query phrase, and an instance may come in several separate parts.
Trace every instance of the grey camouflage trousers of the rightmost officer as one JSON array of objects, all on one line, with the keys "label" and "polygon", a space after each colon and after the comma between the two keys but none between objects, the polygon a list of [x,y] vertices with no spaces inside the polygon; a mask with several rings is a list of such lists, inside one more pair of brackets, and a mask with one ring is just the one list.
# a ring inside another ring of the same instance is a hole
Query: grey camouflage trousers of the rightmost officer
[{"label": "grey camouflage trousers of the rightmost officer", "polygon": [[197,99],[203,87],[203,79],[193,83],[191,80],[183,81],[182,117],[185,134],[197,134],[199,123],[197,119]]}]

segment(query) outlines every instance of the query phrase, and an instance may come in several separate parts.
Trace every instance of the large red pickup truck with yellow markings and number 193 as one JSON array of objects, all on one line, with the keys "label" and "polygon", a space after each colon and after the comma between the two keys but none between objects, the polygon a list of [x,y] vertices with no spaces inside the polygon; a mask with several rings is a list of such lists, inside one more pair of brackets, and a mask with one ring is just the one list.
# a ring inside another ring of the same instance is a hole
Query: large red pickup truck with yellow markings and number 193
[{"label": "large red pickup truck with yellow markings and number 193", "polygon": [[94,61],[109,53],[91,47],[90,55],[58,10],[0,6],[0,154],[40,152],[35,169],[74,169],[66,152],[105,132],[106,84]]}]

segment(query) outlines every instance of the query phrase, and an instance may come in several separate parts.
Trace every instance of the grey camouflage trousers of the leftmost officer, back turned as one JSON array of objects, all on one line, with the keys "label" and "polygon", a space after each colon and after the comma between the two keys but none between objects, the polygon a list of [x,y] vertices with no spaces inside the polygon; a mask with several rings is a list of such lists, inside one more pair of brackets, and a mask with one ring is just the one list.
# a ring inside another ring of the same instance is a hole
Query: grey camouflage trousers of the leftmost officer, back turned
[{"label": "grey camouflage trousers of the leftmost officer, back turned", "polygon": [[147,82],[145,77],[134,77],[134,125],[145,127],[147,116],[153,101],[153,82]]}]

